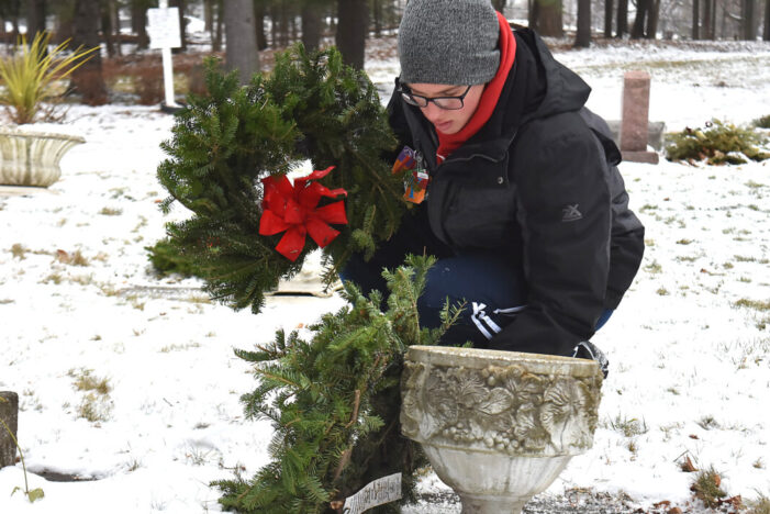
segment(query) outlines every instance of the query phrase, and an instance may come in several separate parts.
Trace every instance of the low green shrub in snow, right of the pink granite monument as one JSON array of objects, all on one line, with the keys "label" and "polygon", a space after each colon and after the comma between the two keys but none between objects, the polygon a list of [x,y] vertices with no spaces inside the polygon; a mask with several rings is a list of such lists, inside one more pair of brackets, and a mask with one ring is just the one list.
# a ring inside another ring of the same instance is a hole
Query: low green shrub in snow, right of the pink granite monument
[{"label": "low green shrub in snow, right of the pink granite monument", "polygon": [[687,127],[669,134],[666,158],[669,160],[705,160],[710,165],[745,164],[747,159],[765,160],[770,154],[761,152],[765,136],[754,128],[712,120],[704,128]]}]

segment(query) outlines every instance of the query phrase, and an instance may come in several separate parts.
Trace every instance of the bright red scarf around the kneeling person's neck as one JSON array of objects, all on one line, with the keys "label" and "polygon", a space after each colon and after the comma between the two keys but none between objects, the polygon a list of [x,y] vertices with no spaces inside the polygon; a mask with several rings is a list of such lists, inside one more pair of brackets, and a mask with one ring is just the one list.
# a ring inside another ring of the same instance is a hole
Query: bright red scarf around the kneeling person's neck
[{"label": "bright red scarf around the kneeling person's neck", "polygon": [[503,91],[507,75],[513,67],[513,59],[516,57],[516,38],[513,32],[511,32],[511,25],[509,25],[505,16],[499,12],[498,21],[500,23],[500,67],[498,68],[498,72],[494,78],[487,83],[487,87],[481,93],[481,99],[479,100],[476,112],[460,132],[457,134],[443,134],[436,131],[436,134],[438,134],[436,161],[439,164],[459,148],[462,143],[470,139],[473,134],[479,132],[484,123],[492,116],[492,112],[498,105],[500,93]]}]

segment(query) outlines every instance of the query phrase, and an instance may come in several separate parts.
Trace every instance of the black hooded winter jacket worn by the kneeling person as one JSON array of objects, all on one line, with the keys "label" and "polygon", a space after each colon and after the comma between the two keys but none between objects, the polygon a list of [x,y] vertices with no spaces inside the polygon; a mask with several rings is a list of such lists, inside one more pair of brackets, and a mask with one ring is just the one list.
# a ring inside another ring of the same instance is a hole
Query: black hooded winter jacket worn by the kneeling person
[{"label": "black hooded winter jacket worn by the kneeling person", "polygon": [[[526,310],[490,348],[571,355],[605,309],[615,309],[644,252],[606,123],[591,91],[529,30],[491,119],[440,166],[438,139],[419,108],[394,91],[390,122],[431,175],[420,214],[453,252],[510,256],[528,287]],[[428,248],[429,250],[429,248]]]}]

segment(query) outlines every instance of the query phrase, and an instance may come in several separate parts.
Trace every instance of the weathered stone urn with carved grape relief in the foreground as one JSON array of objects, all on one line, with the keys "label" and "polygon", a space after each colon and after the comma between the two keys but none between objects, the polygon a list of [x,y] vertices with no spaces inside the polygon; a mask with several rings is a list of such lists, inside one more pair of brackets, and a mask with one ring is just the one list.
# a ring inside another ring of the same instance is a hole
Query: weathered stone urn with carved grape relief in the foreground
[{"label": "weathered stone urn with carved grape relief in the foreground", "polygon": [[412,346],[401,431],[459,494],[464,514],[518,514],[591,448],[601,387],[593,360]]}]

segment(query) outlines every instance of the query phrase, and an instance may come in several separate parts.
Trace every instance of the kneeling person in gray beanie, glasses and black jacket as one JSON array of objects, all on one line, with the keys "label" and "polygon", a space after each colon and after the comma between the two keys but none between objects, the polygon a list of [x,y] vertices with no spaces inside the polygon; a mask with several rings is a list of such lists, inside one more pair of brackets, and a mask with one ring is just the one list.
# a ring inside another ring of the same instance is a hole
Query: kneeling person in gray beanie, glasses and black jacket
[{"label": "kneeling person in gray beanie, glasses and black jacket", "polygon": [[584,342],[636,275],[644,227],[590,88],[489,0],[410,0],[399,58],[391,126],[429,179],[409,186],[414,216],[343,278],[383,289],[382,267],[433,254],[421,322],[466,302],[447,344],[599,358]]}]

